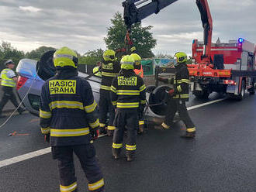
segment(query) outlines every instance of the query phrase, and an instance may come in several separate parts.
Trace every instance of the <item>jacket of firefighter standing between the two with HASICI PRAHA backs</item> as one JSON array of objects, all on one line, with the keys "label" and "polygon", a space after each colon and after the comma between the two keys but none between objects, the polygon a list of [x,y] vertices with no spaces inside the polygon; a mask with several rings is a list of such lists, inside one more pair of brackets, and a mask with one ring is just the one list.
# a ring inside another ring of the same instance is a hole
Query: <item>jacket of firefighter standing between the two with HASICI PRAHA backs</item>
[{"label": "jacket of firefighter standing between the two with HASICI PRAHA backs", "polygon": [[117,60],[102,60],[102,84],[100,91],[110,91],[112,80],[119,74],[120,64]]}]

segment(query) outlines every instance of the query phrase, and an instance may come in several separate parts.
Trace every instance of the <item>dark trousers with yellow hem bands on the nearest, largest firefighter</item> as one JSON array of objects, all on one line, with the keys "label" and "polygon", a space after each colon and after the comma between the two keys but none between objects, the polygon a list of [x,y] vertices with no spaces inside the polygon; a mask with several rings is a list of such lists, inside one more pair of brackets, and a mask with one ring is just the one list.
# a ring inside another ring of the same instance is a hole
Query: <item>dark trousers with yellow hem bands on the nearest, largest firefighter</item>
[{"label": "dark trousers with yellow hem bands on the nearest, largest firefighter", "polygon": [[[89,191],[104,191],[104,180],[99,164],[95,159],[95,148],[89,143],[78,146],[52,146],[53,159],[57,159],[60,174],[61,192],[77,192],[77,179],[74,173],[73,153],[78,156],[81,168],[88,180]],[[84,191],[84,190],[83,190]]]}]

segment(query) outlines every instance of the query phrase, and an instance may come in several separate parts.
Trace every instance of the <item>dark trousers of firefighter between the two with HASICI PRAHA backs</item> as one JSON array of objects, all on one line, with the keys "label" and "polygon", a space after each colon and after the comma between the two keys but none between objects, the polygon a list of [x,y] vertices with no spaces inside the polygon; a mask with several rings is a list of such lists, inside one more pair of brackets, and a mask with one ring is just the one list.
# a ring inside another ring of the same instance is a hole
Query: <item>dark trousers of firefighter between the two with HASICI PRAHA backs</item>
[{"label": "dark trousers of firefighter between the two with HASICI PRAHA backs", "polygon": [[100,90],[99,123],[100,123],[101,129],[106,127],[108,113],[109,113],[109,122],[107,125],[107,129],[113,132],[116,129],[116,127],[113,125],[113,122],[115,119],[115,108],[113,107],[110,99],[110,91]]}]

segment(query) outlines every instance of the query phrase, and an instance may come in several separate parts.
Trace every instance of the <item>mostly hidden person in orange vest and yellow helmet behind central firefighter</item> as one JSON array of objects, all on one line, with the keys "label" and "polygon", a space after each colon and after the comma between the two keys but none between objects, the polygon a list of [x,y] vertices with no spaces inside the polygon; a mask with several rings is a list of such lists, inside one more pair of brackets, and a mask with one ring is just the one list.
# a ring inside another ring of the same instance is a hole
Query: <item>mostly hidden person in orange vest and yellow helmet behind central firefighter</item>
[{"label": "mostly hidden person in orange vest and yellow helmet behind central firefighter", "polygon": [[[141,66],[141,57],[137,53],[130,55],[134,60],[134,73],[143,78],[143,69]],[[144,132],[144,111],[139,111],[139,129],[138,134],[142,135]]]}]

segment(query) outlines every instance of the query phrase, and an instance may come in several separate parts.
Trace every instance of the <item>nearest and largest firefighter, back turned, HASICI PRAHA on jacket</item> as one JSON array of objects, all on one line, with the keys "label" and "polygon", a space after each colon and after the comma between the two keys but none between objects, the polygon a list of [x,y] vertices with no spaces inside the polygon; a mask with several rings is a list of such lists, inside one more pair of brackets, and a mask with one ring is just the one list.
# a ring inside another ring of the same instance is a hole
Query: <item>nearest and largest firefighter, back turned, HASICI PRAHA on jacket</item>
[{"label": "nearest and largest firefighter, back turned, HASICI PRAHA on jacket", "polygon": [[57,74],[43,84],[40,125],[57,159],[61,191],[78,191],[73,153],[88,179],[89,191],[104,191],[104,180],[95,159],[92,139],[97,139],[99,119],[92,87],[78,77],[78,56],[62,47],[54,53]]}]

